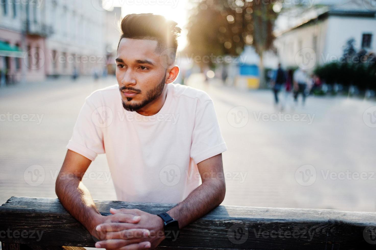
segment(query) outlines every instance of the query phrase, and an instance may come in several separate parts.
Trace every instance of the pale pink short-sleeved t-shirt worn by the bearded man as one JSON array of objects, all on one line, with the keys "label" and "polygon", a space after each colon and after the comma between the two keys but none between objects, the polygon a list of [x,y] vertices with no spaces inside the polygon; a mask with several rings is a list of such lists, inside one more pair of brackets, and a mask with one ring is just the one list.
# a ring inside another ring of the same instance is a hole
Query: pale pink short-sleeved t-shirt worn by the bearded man
[{"label": "pale pink short-sleeved t-shirt worn by the bearded man", "polygon": [[118,200],[179,203],[201,182],[197,163],[227,150],[206,92],[167,84],[161,110],[129,112],[118,85],[86,97],[67,148],[94,161],[106,153]]}]

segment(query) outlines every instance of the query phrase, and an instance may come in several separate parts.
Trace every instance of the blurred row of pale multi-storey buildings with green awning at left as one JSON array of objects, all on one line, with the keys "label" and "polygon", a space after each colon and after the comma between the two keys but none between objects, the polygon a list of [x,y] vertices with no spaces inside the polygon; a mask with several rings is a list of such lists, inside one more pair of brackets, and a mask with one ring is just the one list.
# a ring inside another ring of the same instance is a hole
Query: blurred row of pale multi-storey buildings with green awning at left
[{"label": "blurred row of pale multi-storey buildings with green awning at left", "polygon": [[106,11],[96,1],[2,1],[0,8],[2,72],[36,81],[103,71]]}]

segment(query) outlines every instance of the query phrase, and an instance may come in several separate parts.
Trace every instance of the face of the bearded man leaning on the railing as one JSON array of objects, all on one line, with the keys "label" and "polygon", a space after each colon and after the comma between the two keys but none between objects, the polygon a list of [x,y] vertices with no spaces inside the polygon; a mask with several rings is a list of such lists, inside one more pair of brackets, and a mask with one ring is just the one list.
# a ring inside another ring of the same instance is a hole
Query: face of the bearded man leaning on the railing
[{"label": "face of the bearded man leaning on the railing", "polygon": [[123,38],[116,58],[116,79],[123,107],[137,111],[163,92],[166,69],[155,52],[157,41]]}]

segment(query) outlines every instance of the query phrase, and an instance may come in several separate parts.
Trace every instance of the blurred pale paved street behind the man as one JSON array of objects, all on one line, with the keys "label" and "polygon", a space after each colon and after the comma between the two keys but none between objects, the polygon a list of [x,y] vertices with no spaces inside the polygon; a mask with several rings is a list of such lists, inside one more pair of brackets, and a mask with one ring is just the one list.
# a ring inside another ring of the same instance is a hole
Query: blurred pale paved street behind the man
[{"label": "blurred pale paved street behind the man", "polygon": [[[0,114],[11,117],[0,122],[1,204],[13,195],[56,197],[55,178],[85,97],[114,83],[86,78],[0,88]],[[376,128],[363,116],[375,102],[309,97],[304,108],[278,114],[271,91],[206,86],[195,75],[188,84],[211,95],[227,143],[223,205],[375,211]],[[44,174],[29,171],[33,165]],[[88,171],[108,173],[105,155]],[[33,174],[42,176],[39,185]],[[107,177],[84,180],[94,199],[116,200]]]}]

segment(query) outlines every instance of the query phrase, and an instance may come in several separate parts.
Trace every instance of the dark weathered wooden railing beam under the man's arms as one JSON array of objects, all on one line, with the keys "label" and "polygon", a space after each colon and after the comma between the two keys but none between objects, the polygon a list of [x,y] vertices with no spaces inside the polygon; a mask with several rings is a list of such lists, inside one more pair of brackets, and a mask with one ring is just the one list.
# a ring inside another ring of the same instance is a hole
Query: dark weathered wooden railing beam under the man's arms
[{"label": "dark weathered wooden railing beam under the man's arms", "polygon": [[[174,204],[96,200],[102,215],[112,208],[151,214]],[[376,213],[323,209],[218,206],[158,249],[376,249]],[[3,250],[94,247],[94,238],[56,198],[11,197],[0,206]],[[70,247],[71,246],[71,247]]]}]

